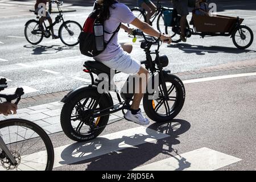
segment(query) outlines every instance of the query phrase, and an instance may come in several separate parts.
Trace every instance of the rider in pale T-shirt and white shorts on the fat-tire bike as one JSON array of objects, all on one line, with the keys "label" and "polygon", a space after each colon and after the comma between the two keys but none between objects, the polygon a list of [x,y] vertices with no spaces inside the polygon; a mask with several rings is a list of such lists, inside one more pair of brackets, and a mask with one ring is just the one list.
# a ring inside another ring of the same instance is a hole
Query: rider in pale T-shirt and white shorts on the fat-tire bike
[{"label": "rider in pale T-shirt and white shorts on the fat-tire bike", "polygon": [[[117,29],[120,23],[133,24],[148,35],[159,37],[162,41],[168,39],[168,43],[171,43],[171,36],[163,35],[159,31],[156,31],[149,24],[142,22],[131,12],[129,7],[123,3],[115,3],[115,0],[98,0],[97,6],[100,6],[102,11],[101,18],[104,19],[104,28],[108,32],[113,32]],[[94,3],[94,6],[96,6]],[[105,41],[108,41],[112,35],[105,34]],[[120,44],[118,44],[118,34],[115,34],[114,38],[108,44],[106,49],[98,56],[93,57],[95,60],[100,61],[107,67],[121,71],[127,74],[136,75],[139,78],[148,76],[147,69],[141,66],[141,63],[131,58],[130,54],[123,51]],[[131,104],[131,108],[125,114],[125,118],[129,121],[133,121],[140,125],[148,125],[149,121],[141,113],[139,105],[143,98],[144,90],[146,90],[147,82],[139,82],[139,93],[134,94],[134,100]]]}]

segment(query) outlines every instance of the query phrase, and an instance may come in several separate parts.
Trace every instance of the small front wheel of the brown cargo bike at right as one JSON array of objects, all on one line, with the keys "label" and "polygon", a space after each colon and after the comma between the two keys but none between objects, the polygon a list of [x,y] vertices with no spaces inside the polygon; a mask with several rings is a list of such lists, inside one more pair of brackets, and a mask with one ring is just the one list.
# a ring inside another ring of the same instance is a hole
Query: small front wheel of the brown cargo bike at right
[{"label": "small front wheel of the brown cargo bike at right", "polygon": [[240,49],[246,49],[253,43],[253,31],[245,25],[237,27],[232,35],[234,45]]}]

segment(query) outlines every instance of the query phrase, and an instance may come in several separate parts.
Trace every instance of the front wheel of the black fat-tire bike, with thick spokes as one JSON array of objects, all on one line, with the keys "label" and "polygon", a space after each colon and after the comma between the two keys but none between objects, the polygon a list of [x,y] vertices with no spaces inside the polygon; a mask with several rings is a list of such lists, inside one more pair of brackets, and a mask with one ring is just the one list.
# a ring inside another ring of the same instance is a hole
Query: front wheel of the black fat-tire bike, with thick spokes
[{"label": "front wheel of the black fat-tire bike, with thick spokes", "polygon": [[147,116],[155,122],[170,121],[179,114],[185,101],[185,88],[179,77],[170,73],[164,77],[166,81],[168,100],[164,98],[163,86],[159,85],[159,97],[152,100],[144,94],[143,107]]}]

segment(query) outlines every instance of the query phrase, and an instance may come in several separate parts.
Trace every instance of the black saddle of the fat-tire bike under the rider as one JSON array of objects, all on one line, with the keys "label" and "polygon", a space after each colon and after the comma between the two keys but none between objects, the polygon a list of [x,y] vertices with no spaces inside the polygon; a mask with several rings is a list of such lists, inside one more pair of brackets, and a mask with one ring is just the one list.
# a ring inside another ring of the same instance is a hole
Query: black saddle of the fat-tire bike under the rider
[{"label": "black saddle of the fat-tire bike under the rider", "polygon": [[99,61],[85,61],[84,67],[90,69],[93,73],[96,73],[97,75],[100,73],[106,73],[110,75],[110,68],[107,67],[105,64],[100,63]]}]

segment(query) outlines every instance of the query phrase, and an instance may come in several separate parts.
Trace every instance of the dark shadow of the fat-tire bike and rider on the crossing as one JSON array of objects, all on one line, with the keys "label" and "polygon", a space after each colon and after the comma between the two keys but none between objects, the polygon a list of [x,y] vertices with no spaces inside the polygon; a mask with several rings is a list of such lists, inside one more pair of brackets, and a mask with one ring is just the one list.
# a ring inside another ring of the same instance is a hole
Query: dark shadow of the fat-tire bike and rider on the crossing
[{"label": "dark shadow of the fat-tire bike and rider on the crossing", "polygon": [[[98,137],[90,142],[73,143],[62,151],[63,161],[60,164],[89,163],[86,170],[131,170],[159,154],[165,154],[177,160],[179,167],[175,170],[182,170],[191,164],[172,146],[180,143],[177,138],[187,132],[190,127],[190,123],[185,120],[173,119],[170,122],[150,125],[146,129],[146,135],[138,133],[116,139]],[[165,136],[159,139],[159,134]],[[155,142],[145,142],[150,139]],[[142,142],[138,144],[138,140]]]}]

